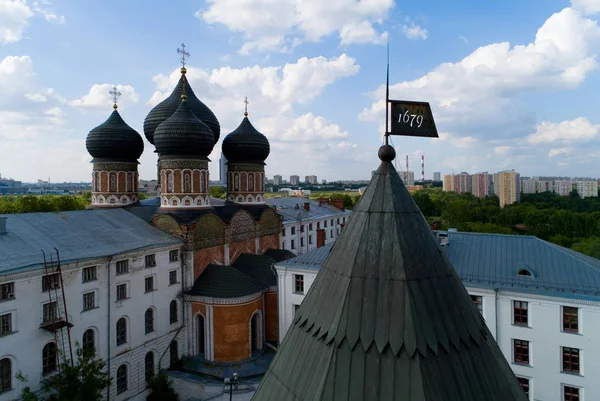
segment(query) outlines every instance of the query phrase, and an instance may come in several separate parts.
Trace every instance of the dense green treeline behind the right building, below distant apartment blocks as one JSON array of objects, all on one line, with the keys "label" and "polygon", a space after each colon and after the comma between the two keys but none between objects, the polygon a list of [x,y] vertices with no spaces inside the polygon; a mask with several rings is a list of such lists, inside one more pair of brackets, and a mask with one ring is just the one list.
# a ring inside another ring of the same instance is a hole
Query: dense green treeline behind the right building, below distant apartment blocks
[{"label": "dense green treeline behind the right building, below distant apartment blocks", "polygon": [[526,234],[600,258],[600,198],[576,193],[522,195],[521,203],[499,207],[498,198],[426,189],[413,199],[428,221],[442,229]]}]

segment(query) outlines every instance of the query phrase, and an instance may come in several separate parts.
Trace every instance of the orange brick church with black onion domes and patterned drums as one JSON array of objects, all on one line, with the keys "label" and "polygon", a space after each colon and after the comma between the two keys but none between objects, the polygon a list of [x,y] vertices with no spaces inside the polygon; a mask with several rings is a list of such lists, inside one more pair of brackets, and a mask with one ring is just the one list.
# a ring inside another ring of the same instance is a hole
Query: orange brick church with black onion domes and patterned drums
[{"label": "orange brick church with black onion domes and patterned drums", "polygon": [[226,200],[209,195],[208,155],[220,137],[214,113],[194,94],[186,69],[171,95],[144,121],[158,154],[155,199],[138,199],[142,137],[119,115],[90,131],[92,208],[124,208],[184,241],[182,299],[190,355],[246,360],[278,343],[277,280],[271,266],[293,257],[280,250],[282,222],[264,202],[267,138],[248,119],[225,136]]}]

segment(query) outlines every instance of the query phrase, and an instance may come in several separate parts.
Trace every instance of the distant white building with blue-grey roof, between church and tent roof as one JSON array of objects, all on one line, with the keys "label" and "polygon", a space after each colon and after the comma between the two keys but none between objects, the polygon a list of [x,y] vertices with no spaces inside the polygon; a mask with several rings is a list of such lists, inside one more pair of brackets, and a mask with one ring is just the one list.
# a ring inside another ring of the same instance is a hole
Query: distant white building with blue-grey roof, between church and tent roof
[{"label": "distant white building with blue-grey roof, between church and tent roof", "polygon": [[281,249],[296,255],[334,242],[351,213],[344,209],[342,200],[285,197],[267,198],[265,202],[283,217]]}]

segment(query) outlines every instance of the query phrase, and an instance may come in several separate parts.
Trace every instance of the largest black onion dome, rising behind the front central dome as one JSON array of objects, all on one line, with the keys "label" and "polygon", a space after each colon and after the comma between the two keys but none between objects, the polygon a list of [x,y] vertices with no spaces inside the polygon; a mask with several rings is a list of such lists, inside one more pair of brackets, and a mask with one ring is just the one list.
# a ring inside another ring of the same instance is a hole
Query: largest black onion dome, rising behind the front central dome
[{"label": "largest black onion dome, rising behind the front central dome", "polygon": [[[154,144],[154,135],[158,125],[167,118],[171,117],[171,115],[173,115],[175,110],[177,110],[179,107],[179,103],[181,103],[181,92],[183,90],[184,80],[185,76],[181,75],[181,78],[179,78],[179,82],[177,83],[177,86],[175,86],[175,89],[173,89],[171,95],[154,106],[154,108],[150,110],[150,113],[148,113],[146,116],[146,119],[144,120],[144,135],[146,135],[146,139],[148,139],[148,142],[151,144]],[[219,125],[219,120],[217,120],[217,117],[212,110],[196,97],[187,80],[185,94],[187,96],[189,108],[196,115],[196,117],[208,125],[214,135],[216,143],[221,135],[221,126]]]}]

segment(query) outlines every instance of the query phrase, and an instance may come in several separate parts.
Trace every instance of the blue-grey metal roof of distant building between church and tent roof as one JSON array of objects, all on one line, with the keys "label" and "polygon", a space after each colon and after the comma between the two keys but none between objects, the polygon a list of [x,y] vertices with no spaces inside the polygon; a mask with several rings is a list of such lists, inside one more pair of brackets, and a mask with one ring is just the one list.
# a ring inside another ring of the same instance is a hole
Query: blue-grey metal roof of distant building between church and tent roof
[{"label": "blue-grey metal roof of distant building between church and tent roof", "polygon": [[[283,221],[320,219],[322,217],[337,217],[350,214],[351,210],[340,210],[326,203],[319,204],[316,200],[286,196],[283,198],[266,198],[265,202],[276,208],[277,213],[283,216]],[[304,209],[304,203],[310,203],[310,210]]]}]

